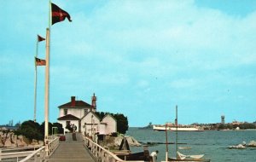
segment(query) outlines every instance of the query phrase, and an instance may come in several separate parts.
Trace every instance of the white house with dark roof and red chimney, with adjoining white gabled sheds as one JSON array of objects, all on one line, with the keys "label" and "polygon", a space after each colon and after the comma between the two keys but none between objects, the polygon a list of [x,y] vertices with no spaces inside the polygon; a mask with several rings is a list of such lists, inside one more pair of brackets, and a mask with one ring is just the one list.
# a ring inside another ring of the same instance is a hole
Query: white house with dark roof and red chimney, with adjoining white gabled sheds
[{"label": "white house with dark roof and red chimney, with adjoining white gabled sheds", "polygon": [[96,115],[96,95],[91,97],[91,105],[85,101],[76,101],[71,96],[71,101],[59,106],[58,122],[62,124],[64,132],[67,132],[67,125],[73,125],[76,131],[84,135],[95,134],[108,135],[117,131],[117,122],[112,115],[107,114],[101,120]]}]

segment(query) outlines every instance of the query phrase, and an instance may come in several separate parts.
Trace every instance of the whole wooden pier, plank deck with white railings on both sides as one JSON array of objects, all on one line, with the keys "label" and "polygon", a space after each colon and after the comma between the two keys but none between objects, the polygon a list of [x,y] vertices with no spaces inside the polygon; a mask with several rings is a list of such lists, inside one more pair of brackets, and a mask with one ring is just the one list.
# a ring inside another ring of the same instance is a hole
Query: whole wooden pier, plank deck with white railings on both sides
[{"label": "whole wooden pier, plank deck with white railings on both sides", "polygon": [[[90,137],[83,136],[81,133],[66,134],[66,141],[59,141],[59,136],[50,136],[49,144],[45,146],[35,146],[32,150],[20,151],[21,148],[0,149],[1,161],[19,161],[19,162],[58,162],[58,161],[75,161],[75,162],[129,162],[128,160],[119,159],[108,148],[103,148]],[[140,162],[140,161],[137,161]],[[142,161],[141,161],[142,162]]]}]

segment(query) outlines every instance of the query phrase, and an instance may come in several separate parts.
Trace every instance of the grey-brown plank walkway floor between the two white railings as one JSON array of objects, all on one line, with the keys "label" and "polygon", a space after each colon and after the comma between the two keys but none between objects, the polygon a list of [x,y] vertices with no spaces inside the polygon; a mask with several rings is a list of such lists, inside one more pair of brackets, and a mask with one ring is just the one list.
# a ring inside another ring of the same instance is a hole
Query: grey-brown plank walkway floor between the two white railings
[{"label": "grey-brown plank walkway floor between the two white railings", "polygon": [[[75,140],[75,139],[74,139]],[[84,148],[83,137],[81,134],[76,133],[76,140],[73,141],[71,133],[66,134],[66,141],[60,142],[59,147],[55,150],[47,161],[74,161],[74,162],[94,162],[90,153]]]}]

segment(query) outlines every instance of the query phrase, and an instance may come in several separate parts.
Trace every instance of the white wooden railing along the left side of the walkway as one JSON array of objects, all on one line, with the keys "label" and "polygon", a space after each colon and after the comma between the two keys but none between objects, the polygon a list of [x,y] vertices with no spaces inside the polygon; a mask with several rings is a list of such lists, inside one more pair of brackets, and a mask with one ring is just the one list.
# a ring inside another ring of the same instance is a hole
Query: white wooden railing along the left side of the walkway
[{"label": "white wooden railing along the left side of the walkway", "polygon": [[59,137],[49,137],[49,143],[46,146],[31,146],[19,148],[1,148],[0,161],[44,161],[44,159],[54,153],[59,146]]}]

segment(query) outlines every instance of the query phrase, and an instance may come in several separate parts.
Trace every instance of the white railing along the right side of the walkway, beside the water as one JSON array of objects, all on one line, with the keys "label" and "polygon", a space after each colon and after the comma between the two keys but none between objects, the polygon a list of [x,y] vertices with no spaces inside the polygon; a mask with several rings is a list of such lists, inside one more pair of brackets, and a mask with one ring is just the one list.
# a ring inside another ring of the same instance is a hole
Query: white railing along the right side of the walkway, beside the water
[{"label": "white railing along the right side of the walkway, beside the water", "polygon": [[[98,145],[96,142],[93,142],[87,136],[84,136],[84,145],[89,149],[90,153],[96,158],[99,162],[125,162],[123,159],[119,159],[115,154],[111,153],[106,148],[102,148],[102,146]],[[129,162],[129,161],[126,161]],[[131,162],[131,161],[130,161]],[[135,162],[135,160],[132,160]],[[143,161],[137,161],[143,162]]]}]

